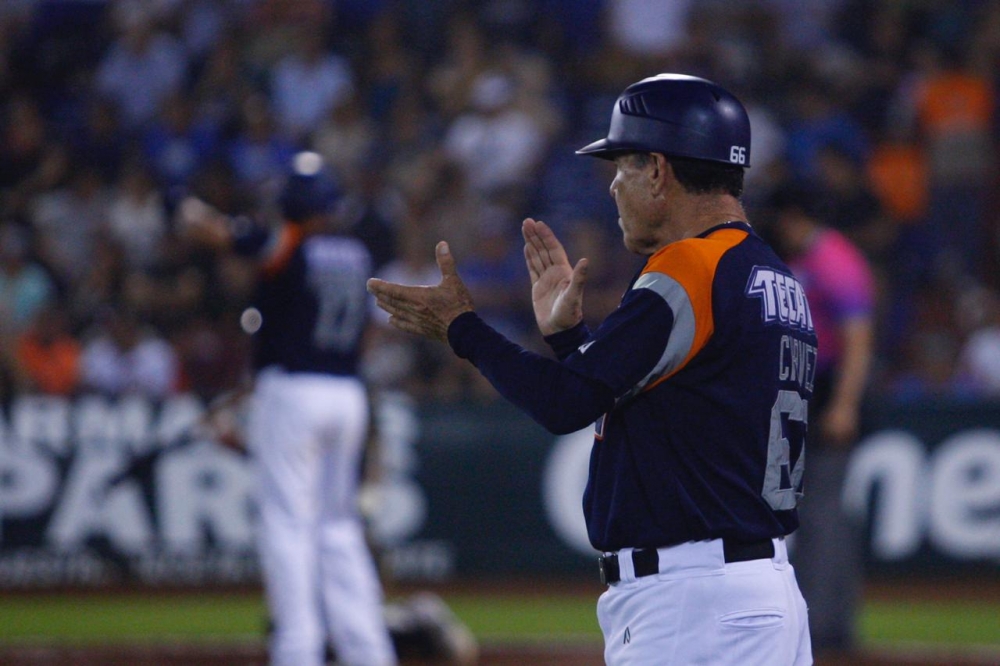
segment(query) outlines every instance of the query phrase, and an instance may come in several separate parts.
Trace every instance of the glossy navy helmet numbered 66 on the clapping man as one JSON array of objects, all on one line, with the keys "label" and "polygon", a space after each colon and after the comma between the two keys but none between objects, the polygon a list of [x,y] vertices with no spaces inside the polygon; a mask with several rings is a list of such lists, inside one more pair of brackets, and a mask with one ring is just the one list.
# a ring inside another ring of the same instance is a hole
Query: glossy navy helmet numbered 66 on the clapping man
[{"label": "glossy navy helmet numbered 66 on the clapping man", "polygon": [[750,166],[750,119],[735,96],[696,76],[660,74],[618,96],[608,136],[576,151],[614,159],[616,153],[663,153]]}]

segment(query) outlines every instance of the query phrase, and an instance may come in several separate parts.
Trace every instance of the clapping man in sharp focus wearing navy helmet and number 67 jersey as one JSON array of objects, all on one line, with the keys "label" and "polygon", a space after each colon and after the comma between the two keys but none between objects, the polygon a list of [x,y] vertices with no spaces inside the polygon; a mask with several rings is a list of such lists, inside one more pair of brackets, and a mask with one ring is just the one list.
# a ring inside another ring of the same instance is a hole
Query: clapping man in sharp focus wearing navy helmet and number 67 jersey
[{"label": "clapping man in sharp focus wearing navy helmet and number 67 jersey", "polygon": [[448,245],[441,283],[369,280],[396,327],[447,340],[539,423],[596,423],[584,513],[603,552],[609,664],[808,664],[806,605],[784,537],[797,526],[816,335],[801,285],[750,228],[743,105],[664,74],[629,86],[607,138],[625,246],[647,257],[596,331],[587,263],[524,221],[535,317],[557,359],[474,312]]}]

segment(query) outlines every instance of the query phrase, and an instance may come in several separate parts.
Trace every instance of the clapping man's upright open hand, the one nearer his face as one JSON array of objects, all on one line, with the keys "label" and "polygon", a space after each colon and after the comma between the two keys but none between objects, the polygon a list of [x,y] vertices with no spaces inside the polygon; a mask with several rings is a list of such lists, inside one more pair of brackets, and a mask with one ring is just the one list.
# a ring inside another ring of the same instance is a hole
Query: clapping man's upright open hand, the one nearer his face
[{"label": "clapping man's upright open hand, the one nearer his face", "polygon": [[521,225],[521,234],[538,329],[542,335],[552,335],[573,328],[583,320],[587,260],[571,266],[562,243],[544,222],[529,217]]}]

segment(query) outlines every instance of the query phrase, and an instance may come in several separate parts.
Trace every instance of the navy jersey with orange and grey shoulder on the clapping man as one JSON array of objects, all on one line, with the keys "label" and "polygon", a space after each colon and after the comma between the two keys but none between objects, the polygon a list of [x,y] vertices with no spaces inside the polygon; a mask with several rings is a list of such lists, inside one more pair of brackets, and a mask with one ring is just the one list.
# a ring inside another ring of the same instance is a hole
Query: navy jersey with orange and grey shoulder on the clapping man
[{"label": "navy jersey with orange and grey shoulder on the clapping man", "polygon": [[816,336],[801,285],[748,225],[651,256],[596,331],[550,336],[558,361],[484,327],[463,315],[449,341],[505,397],[554,431],[596,422],[595,548],[797,527]]}]

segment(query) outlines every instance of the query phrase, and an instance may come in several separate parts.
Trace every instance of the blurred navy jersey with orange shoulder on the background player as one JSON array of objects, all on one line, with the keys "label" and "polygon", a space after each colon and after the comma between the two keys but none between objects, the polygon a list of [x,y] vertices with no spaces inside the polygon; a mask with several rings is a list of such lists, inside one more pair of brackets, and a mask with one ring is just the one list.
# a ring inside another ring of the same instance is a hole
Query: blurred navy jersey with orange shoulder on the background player
[{"label": "blurred navy jersey with orange shoulder on the background player", "polygon": [[254,305],[262,323],[254,336],[254,368],[356,373],[368,321],[365,282],[372,261],[349,236],[303,236],[286,224],[242,238],[237,249],[262,262]]}]

